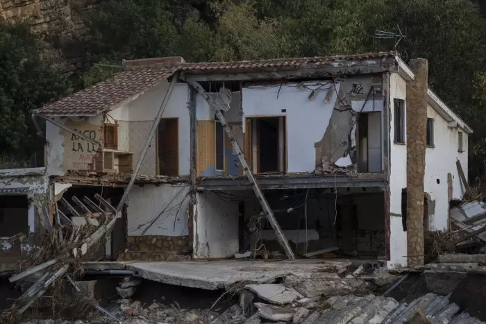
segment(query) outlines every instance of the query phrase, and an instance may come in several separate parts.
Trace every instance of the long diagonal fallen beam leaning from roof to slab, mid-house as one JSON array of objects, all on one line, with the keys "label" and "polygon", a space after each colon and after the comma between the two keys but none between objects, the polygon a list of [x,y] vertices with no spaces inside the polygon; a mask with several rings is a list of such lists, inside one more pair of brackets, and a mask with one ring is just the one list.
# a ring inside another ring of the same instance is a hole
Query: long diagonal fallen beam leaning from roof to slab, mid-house
[{"label": "long diagonal fallen beam leaning from roof to slab, mid-house", "polygon": [[200,94],[204,100],[206,100],[206,102],[210,105],[210,107],[213,110],[215,110],[216,117],[217,119],[219,119],[221,126],[224,127],[224,130],[226,131],[226,134],[228,135],[228,138],[230,139],[231,144],[233,145],[233,148],[238,156],[238,160],[240,160],[240,164],[242,164],[244,173],[246,174],[246,177],[248,178],[251,185],[253,186],[253,191],[255,191],[255,195],[258,198],[260,205],[262,205],[263,212],[265,212],[265,216],[267,216],[267,219],[271,227],[275,231],[278,242],[285,250],[285,254],[287,255],[287,257],[292,260],[295,259],[294,252],[292,251],[292,248],[290,248],[289,242],[287,241],[287,238],[283,234],[280,225],[278,225],[278,222],[274,216],[274,212],[271,210],[267,198],[265,198],[263,191],[260,189],[258,182],[256,181],[255,177],[253,176],[253,173],[251,172],[251,169],[248,167],[248,163],[246,163],[246,160],[244,159],[242,149],[240,148],[240,144],[238,144],[238,142],[235,139],[235,135],[233,135],[233,130],[231,130],[231,127],[228,126],[226,119],[221,113],[221,110],[223,111],[227,110],[227,107],[224,106],[223,101],[221,101],[219,98],[217,99],[217,101],[214,101],[199,83],[187,79],[185,78],[185,76],[179,76],[179,78],[181,80],[184,80],[191,87],[193,87],[196,90],[196,92]]}]

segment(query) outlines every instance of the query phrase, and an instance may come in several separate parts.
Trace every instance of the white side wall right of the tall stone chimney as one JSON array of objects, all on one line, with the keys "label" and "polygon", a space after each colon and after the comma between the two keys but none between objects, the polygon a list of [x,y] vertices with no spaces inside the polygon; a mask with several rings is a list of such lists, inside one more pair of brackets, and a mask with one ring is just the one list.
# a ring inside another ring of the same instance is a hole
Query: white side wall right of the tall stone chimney
[{"label": "white side wall right of the tall stone chimney", "polygon": [[[462,199],[464,187],[460,180],[456,160],[460,160],[462,170],[467,178],[467,133],[460,128],[449,128],[443,119],[430,105],[427,117],[434,119],[435,147],[426,148],[426,170],[424,188],[429,195],[429,230],[447,230],[449,217],[447,175],[452,174],[453,199]],[[462,132],[463,152],[458,152],[458,133]],[[439,182],[439,183],[437,183]]]}]

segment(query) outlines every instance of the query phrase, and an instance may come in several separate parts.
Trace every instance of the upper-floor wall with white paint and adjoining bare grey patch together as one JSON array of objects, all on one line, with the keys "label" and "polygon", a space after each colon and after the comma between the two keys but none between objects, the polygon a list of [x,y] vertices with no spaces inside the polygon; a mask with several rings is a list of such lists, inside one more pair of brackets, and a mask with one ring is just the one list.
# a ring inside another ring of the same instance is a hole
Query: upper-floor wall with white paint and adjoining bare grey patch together
[{"label": "upper-floor wall with white paint and adjoining bare grey patch together", "polygon": [[371,86],[376,90],[369,96],[374,105],[367,108],[383,109],[381,76],[349,78],[335,86],[329,82],[251,86],[242,91],[244,117],[285,116],[290,173],[312,172],[323,162],[324,169],[332,171],[340,157],[353,153],[356,121],[348,107],[359,111],[362,105],[353,103],[364,102]]}]

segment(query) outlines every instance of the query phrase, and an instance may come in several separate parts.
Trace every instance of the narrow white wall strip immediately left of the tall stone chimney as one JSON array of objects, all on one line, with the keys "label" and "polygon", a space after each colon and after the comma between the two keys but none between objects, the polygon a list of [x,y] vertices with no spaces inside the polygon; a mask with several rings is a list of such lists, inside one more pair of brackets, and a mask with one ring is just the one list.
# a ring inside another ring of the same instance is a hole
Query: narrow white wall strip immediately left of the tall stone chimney
[{"label": "narrow white wall strip immediately left of the tall stone chimney", "polygon": [[[407,146],[394,143],[394,105],[393,99],[407,97],[407,83],[398,73],[389,74],[389,114],[390,114],[390,178],[389,178],[389,227],[390,227],[390,260],[389,268],[407,266],[407,232],[403,230],[401,214],[402,189],[407,187]],[[407,107],[405,101],[406,121]],[[406,129],[406,128],[405,128]],[[406,132],[405,132],[406,143]]]}]

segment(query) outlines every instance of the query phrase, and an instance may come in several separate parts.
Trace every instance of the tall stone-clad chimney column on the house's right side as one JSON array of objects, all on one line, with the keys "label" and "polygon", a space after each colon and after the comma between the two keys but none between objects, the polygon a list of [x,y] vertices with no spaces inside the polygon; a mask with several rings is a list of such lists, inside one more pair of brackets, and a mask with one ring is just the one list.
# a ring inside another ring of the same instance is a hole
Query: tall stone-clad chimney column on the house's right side
[{"label": "tall stone-clad chimney column on the house's right side", "polygon": [[408,266],[424,264],[424,176],[428,61],[410,60],[415,80],[407,83],[407,247]]}]

